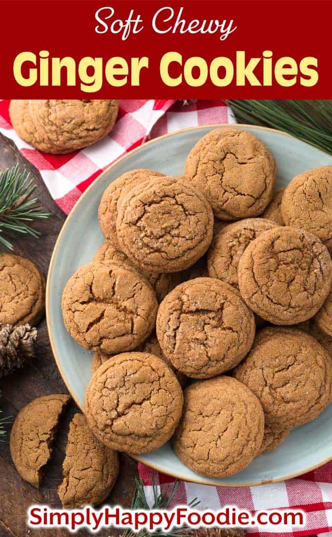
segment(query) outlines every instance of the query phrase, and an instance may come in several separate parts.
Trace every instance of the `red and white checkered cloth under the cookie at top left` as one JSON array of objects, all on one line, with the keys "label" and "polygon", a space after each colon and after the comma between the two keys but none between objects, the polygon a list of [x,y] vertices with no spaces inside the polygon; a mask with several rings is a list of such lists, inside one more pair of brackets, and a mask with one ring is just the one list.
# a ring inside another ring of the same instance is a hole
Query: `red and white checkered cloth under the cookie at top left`
[{"label": "red and white checkered cloth under the cookie at top left", "polygon": [[235,121],[220,100],[186,106],[174,100],[120,100],[116,125],[103,140],[69,155],[49,155],[16,134],[9,118],[9,102],[0,101],[0,132],[13,140],[21,154],[39,170],[50,195],[66,214],[107,166],[148,139],[185,127]]}]

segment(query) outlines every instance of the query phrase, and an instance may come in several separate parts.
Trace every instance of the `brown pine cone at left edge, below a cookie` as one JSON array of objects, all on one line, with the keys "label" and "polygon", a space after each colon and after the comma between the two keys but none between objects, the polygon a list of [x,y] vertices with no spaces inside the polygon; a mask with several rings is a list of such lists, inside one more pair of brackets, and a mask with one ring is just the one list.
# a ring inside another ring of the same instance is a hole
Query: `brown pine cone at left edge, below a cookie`
[{"label": "brown pine cone at left edge, below a cookie", "polygon": [[0,378],[23,367],[34,357],[37,328],[30,324],[0,324]]}]

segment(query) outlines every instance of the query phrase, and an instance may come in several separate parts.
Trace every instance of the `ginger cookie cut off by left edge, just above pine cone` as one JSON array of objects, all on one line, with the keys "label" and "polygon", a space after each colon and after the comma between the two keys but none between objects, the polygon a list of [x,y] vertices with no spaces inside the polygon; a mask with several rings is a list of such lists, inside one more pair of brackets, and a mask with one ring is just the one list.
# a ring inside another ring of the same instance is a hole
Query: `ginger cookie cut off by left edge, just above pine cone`
[{"label": "ginger cookie cut off by left edge, just above pine cone", "polygon": [[0,323],[38,324],[45,314],[45,278],[34,263],[0,255]]}]

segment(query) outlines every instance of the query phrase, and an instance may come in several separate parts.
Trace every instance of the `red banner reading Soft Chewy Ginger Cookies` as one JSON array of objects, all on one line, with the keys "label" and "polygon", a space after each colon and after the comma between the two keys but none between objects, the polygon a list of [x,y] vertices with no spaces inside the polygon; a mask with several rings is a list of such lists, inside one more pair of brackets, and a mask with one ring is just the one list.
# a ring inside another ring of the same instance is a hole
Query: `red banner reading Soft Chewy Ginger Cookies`
[{"label": "red banner reading Soft Chewy Ginger Cookies", "polygon": [[1,7],[2,98],[331,97],[330,1]]}]

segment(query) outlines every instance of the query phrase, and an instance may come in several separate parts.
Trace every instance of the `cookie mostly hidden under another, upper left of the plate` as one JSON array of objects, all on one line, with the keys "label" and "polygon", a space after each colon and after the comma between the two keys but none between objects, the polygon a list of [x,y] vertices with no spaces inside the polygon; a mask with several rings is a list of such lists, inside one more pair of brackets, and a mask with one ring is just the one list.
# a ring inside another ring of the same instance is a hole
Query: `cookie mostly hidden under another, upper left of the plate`
[{"label": "cookie mostly hidden under another, upper left of the plate", "polygon": [[164,177],[163,173],[154,170],[131,170],[122,173],[120,177],[114,179],[107,186],[98,208],[99,226],[105,238],[111,240],[114,245],[118,245],[117,237],[117,216],[118,201],[121,193],[128,193],[134,186],[153,177]]}]

